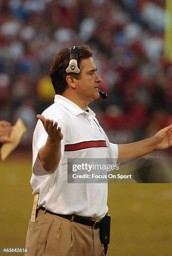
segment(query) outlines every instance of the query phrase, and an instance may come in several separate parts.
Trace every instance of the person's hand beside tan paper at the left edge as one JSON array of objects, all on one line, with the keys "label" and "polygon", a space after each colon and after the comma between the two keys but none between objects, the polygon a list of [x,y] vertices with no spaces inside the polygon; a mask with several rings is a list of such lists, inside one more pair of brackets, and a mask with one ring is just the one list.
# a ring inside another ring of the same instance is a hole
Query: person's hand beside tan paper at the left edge
[{"label": "person's hand beside tan paper at the left edge", "polygon": [[12,130],[12,126],[9,122],[1,120],[0,121],[0,146],[3,143],[11,142],[9,135]]}]

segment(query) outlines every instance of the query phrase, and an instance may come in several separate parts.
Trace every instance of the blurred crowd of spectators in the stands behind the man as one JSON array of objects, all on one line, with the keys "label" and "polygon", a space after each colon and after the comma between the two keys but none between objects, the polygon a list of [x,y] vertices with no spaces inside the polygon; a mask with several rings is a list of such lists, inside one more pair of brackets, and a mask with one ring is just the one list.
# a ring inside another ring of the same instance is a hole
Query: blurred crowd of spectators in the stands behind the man
[{"label": "blurred crowd of spectators in the stands behind the man", "polygon": [[52,56],[85,43],[108,95],[90,107],[110,141],[152,136],[172,123],[164,26],[164,0],[1,0],[0,120],[22,118],[30,145],[36,114],[54,99]]}]

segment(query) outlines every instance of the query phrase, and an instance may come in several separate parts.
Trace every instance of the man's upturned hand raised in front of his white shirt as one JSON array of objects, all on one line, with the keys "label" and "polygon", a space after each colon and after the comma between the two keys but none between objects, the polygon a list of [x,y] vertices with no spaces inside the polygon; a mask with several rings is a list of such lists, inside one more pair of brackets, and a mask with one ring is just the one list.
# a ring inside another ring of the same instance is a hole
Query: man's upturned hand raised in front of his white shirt
[{"label": "man's upturned hand raised in front of his white shirt", "polygon": [[[54,141],[54,142],[58,142],[58,141],[61,141],[62,138],[63,138],[63,134],[61,133],[61,128],[58,127],[57,129],[57,125],[58,123],[55,122],[51,119],[45,119],[45,117],[43,115],[37,115],[37,118],[41,120],[44,128],[45,128],[45,131],[47,132],[48,134],[48,137]],[[54,125],[53,125],[54,123]]]}]

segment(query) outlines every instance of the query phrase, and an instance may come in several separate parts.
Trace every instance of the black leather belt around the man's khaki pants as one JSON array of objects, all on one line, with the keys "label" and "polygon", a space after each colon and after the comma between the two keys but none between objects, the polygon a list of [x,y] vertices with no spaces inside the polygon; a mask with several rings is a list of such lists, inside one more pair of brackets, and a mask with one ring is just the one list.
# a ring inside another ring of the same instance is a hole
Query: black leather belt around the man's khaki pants
[{"label": "black leather belt around the man's khaki pants", "polygon": [[[44,207],[40,206],[38,209],[41,209],[41,210],[46,210]],[[37,209],[37,210],[38,210]],[[58,213],[54,213],[54,212],[50,212],[49,210],[46,210],[46,212],[49,212],[50,214],[53,214],[53,215],[57,215],[59,217],[62,217],[62,218],[65,218],[67,220],[71,220],[72,219],[72,216],[73,214],[69,214],[69,215],[63,215],[63,214],[58,214]],[[88,220],[88,219],[85,219],[85,218],[82,218],[78,215],[74,215],[74,218],[73,218],[73,221],[77,222],[77,223],[80,223],[80,224],[83,224],[83,225],[87,225],[87,226],[90,226],[94,229],[97,229],[97,228],[100,228],[101,226],[101,221],[92,221],[92,220]]]}]

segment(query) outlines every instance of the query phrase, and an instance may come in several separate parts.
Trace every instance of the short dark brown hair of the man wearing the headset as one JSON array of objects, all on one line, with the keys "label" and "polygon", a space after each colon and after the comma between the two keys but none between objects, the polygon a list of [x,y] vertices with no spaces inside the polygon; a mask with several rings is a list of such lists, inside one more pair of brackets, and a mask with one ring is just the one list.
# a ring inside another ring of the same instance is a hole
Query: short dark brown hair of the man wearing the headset
[{"label": "short dark brown hair of the man wearing the headset", "polygon": [[[79,48],[79,56],[77,60],[78,68],[82,59],[92,57],[93,52],[90,47],[86,44],[81,44]],[[66,73],[66,69],[70,61],[70,49],[65,48],[58,51],[52,59],[50,65],[50,77],[56,94],[62,94],[67,89],[66,77],[71,74],[76,79],[80,78],[80,74]]]}]

